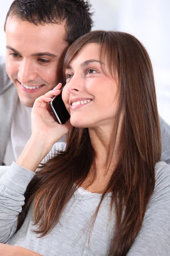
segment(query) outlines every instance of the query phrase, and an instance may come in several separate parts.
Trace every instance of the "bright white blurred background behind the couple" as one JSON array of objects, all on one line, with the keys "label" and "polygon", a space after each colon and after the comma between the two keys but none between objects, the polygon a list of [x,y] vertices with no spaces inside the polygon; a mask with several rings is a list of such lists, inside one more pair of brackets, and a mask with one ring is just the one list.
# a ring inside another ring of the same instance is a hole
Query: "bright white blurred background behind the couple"
[{"label": "bright white blurred background behind the couple", "polygon": [[[94,28],[135,35],[153,63],[160,115],[170,125],[170,0],[90,0]],[[3,25],[12,0],[0,0],[0,55],[6,53]]]}]

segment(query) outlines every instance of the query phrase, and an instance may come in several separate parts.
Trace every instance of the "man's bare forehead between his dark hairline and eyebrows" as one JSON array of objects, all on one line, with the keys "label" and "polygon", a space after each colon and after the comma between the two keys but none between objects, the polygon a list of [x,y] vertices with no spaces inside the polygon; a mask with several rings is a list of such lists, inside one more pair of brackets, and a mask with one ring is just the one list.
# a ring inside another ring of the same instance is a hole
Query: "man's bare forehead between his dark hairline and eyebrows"
[{"label": "man's bare forehead between his dark hairline and eyebrows", "polygon": [[[23,55],[42,55],[43,52],[58,55],[68,47],[64,24],[35,25],[28,21],[10,18],[6,23],[6,44]],[[48,55],[48,54],[47,54]]]}]

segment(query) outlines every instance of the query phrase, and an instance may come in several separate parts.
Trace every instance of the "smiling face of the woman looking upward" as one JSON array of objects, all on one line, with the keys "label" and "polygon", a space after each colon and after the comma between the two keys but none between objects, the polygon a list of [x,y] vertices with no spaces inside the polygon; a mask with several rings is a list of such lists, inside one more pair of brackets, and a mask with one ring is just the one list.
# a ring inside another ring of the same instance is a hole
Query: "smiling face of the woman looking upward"
[{"label": "smiling face of the woman looking upward", "polygon": [[[99,53],[99,44],[85,45],[65,71],[62,99],[75,127],[95,128],[113,124],[118,81],[102,71]],[[106,61],[104,66],[107,72]]]}]

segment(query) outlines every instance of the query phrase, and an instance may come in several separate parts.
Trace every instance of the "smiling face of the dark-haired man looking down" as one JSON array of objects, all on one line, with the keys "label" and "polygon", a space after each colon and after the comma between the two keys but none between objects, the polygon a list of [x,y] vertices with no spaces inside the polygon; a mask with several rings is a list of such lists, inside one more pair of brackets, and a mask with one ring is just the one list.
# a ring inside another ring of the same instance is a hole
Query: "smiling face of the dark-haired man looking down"
[{"label": "smiling face of the dark-haired man looking down", "polygon": [[6,23],[6,70],[20,101],[35,99],[62,82],[62,60],[68,43],[64,24],[34,25],[17,17]]}]

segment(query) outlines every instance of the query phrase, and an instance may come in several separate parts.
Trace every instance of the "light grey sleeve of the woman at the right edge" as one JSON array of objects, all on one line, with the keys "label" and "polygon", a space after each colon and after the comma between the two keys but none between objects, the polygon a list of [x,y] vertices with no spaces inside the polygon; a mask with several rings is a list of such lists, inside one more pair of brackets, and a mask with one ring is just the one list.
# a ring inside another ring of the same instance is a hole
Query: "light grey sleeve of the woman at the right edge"
[{"label": "light grey sleeve of the woman at the right edge", "polygon": [[142,229],[127,256],[170,255],[170,166],[160,162],[156,172],[156,186]]}]

